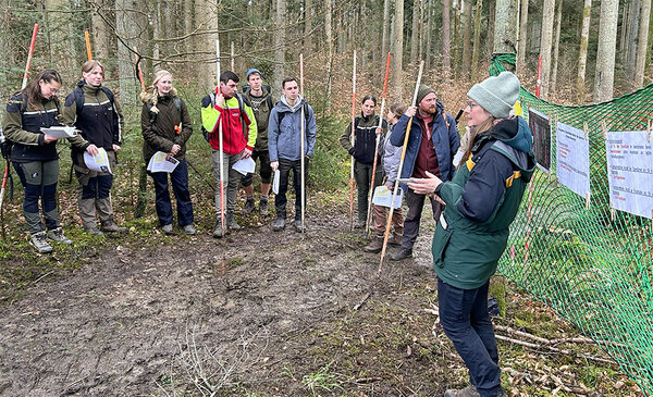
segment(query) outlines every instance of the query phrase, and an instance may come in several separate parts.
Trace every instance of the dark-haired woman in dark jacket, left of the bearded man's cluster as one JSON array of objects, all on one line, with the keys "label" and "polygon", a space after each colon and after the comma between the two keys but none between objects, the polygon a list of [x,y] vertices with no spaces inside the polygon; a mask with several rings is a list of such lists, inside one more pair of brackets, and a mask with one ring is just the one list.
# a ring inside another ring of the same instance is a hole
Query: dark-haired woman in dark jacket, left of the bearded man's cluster
[{"label": "dark-haired woman in dark jacket, left of the bearded man's cluster", "polygon": [[[340,138],[343,148],[354,157],[354,178],[358,190],[358,221],[354,224],[356,228],[366,226],[372,170],[374,161],[380,163],[380,157],[377,156],[377,135],[387,129],[385,121],[382,128],[379,128],[379,116],[374,114],[377,98],[367,95],[360,103],[360,115],[354,119],[354,145],[352,145],[352,123],[347,124]],[[377,166],[373,188],[381,186],[383,182],[381,174],[381,166]]]}]

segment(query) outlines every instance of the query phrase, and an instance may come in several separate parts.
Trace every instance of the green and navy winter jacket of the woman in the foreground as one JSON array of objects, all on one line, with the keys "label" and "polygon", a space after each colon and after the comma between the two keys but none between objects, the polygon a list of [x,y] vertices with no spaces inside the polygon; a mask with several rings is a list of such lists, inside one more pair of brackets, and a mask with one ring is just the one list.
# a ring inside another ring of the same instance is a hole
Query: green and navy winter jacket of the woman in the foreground
[{"label": "green and navy winter jacket of the woman in the foreground", "polygon": [[477,137],[471,157],[436,194],[446,207],[433,236],[433,268],[461,289],[481,287],[496,271],[535,162],[521,117]]}]

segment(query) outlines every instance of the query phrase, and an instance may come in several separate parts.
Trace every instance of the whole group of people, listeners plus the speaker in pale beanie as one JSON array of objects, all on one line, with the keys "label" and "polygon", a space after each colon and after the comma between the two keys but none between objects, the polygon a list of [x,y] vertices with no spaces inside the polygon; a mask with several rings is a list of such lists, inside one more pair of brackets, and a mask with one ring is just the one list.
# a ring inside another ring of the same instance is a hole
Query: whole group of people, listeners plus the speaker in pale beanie
[{"label": "whole group of people, listeners plus the speaker in pale beanie", "polygon": [[[24,186],[23,213],[30,233],[29,243],[44,253],[52,251],[49,241],[72,241],[63,233],[57,209],[58,139],[41,132],[42,127],[70,125],[81,132],[67,140],[81,186],[78,210],[84,229],[94,235],[125,231],[113,218],[110,195],[113,175],[91,171],[84,161],[84,153],[95,156],[103,149],[111,169],[114,168],[124,128],[120,102],[102,86],[101,63],[85,62],[82,76],[61,107],[57,98],[63,83],[61,76],[53,70],[42,71],[25,89],[11,97],[3,119],[4,135],[12,142],[10,159]],[[196,229],[185,161],[193,126],[186,104],[177,97],[172,82],[171,73],[159,71],[153,75],[151,87],[140,94],[143,150],[146,162],[157,151],[178,161],[170,174],[150,174],[157,215],[162,231],[173,233],[170,175],[177,201],[178,226],[193,235]],[[238,83],[235,73],[223,72],[219,86],[201,102],[201,126],[211,147],[217,185],[213,236],[220,238],[241,228],[234,218],[239,184],[247,196],[244,212],[251,213],[256,209],[251,175],[243,176],[232,168],[246,158],[260,161],[259,211],[262,215],[269,214],[272,173],[279,174],[276,214],[271,224],[275,232],[285,227],[286,193],[293,172],[294,227],[303,231],[301,208],[306,206],[306,198],[300,181],[306,179],[316,144],[313,110],[299,95],[293,77],[283,80],[279,101],[272,100],[269,87],[262,85],[262,75],[256,69],[247,72],[244,94],[237,92]],[[399,247],[391,259],[412,256],[422,208],[429,198],[436,221],[432,253],[440,321],[469,369],[470,385],[446,390],[448,397],[503,395],[486,300],[490,277],[506,248],[508,227],[534,170],[531,132],[520,116],[510,115],[518,97],[519,80],[509,72],[475,85],[465,108],[469,132],[463,147],[454,117],[444,111],[433,89],[426,85],[419,87],[415,106],[390,106],[387,123],[374,114],[375,98],[365,97],[360,115],[341,138],[342,146],[355,161],[357,226],[367,226],[370,188],[381,185],[392,188],[399,178],[408,212],[404,220],[401,209],[394,211],[390,244]],[[407,142],[405,156],[402,154],[404,142]],[[461,161],[455,166],[457,152]],[[402,158],[404,162],[399,166]],[[399,168],[402,173],[397,175]],[[374,206],[372,213],[374,233],[365,250],[379,252],[387,209]]]}]

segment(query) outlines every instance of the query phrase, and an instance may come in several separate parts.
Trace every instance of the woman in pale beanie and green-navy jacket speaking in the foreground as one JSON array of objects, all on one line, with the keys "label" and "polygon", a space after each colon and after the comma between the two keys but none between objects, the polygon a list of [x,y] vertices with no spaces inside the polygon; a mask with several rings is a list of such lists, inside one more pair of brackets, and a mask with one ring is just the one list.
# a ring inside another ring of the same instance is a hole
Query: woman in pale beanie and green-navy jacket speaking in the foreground
[{"label": "woman in pale beanie and green-navy jacket speaking in the foreground", "polygon": [[535,169],[532,134],[509,116],[519,79],[503,72],[475,85],[465,108],[469,144],[454,178],[410,178],[408,187],[445,202],[433,235],[440,323],[469,370],[470,385],[445,397],[503,396],[498,351],[488,313],[490,277]]}]

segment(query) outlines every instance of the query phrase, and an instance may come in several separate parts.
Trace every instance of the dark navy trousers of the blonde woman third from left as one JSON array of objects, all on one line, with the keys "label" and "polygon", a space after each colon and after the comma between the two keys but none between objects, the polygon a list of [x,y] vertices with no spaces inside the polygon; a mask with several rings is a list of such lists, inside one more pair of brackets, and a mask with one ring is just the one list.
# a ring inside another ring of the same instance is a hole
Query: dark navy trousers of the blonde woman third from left
[{"label": "dark navy trousers of the blonde woman third from left", "polygon": [[[150,173],[155,181],[155,191],[157,194],[157,215],[161,225],[172,224],[172,203],[170,193],[168,191],[168,173]],[[188,168],[186,160],[180,160],[180,164],[170,173],[172,190],[177,202],[177,222],[180,226],[186,226],[193,223],[193,201],[188,191]]]}]

